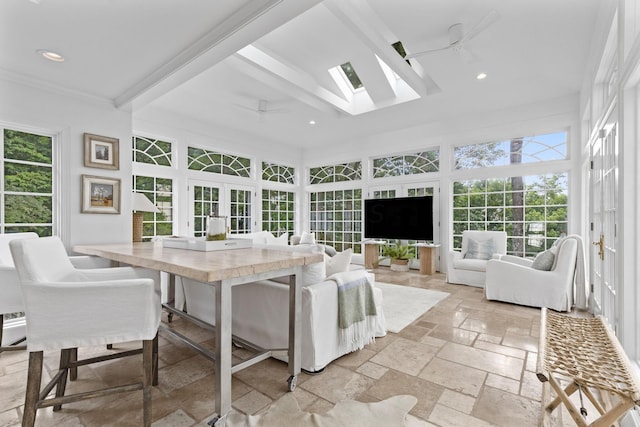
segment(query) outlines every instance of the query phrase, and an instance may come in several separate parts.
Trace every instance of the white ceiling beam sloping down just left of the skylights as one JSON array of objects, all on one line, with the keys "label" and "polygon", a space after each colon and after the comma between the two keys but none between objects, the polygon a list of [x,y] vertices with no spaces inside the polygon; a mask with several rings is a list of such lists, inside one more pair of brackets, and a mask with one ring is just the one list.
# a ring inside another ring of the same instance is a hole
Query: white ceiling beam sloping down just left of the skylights
[{"label": "white ceiling beam sloping down just left of the skylights", "polygon": [[353,115],[352,104],[335,93],[320,86],[308,73],[285,64],[282,60],[268,55],[264,51],[249,45],[237,52],[237,55],[248,63],[277,77],[283,82],[302,90],[304,93],[314,96],[316,99],[327,103],[338,110]]}]

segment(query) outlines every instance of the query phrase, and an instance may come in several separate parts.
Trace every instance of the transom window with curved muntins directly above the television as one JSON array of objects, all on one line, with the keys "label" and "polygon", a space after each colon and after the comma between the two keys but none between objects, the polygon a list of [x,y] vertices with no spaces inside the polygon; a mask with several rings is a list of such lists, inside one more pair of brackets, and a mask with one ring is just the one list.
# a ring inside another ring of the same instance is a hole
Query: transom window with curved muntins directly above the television
[{"label": "transom window with curved muntins directly above the television", "polygon": [[392,176],[438,172],[440,169],[439,159],[439,150],[378,157],[373,159],[373,177],[388,178]]}]

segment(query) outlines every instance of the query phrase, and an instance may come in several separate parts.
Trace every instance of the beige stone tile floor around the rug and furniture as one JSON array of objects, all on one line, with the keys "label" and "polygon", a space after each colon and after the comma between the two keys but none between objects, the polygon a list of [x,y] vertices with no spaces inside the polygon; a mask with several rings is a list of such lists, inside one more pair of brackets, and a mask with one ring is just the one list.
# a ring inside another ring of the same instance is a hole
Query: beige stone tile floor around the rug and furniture
[{"label": "beige stone tile floor around the rug and furniture", "polygon": [[[379,401],[411,394],[418,403],[407,425],[535,426],[540,421],[541,383],[535,376],[540,310],[485,300],[480,288],[451,285],[443,274],[375,270],[376,280],[450,294],[398,334],[331,363],[320,375],[300,374],[294,395],[303,410],[323,412],[342,399]],[[166,321],[166,315],[163,315]],[[175,319],[174,327],[212,346],[212,334]],[[119,347],[134,347],[135,343]],[[81,357],[103,348],[81,349]],[[213,412],[213,367],[185,345],[160,336],[159,385],[153,390],[154,426],[205,426]],[[234,357],[246,357],[237,349]],[[45,372],[58,353],[45,353]],[[139,359],[79,368],[70,391],[116,385],[139,376]],[[19,425],[26,384],[27,353],[0,354],[0,426]],[[287,367],[268,359],[233,377],[233,406],[258,413],[287,393]],[[48,378],[48,377],[47,377]],[[40,409],[39,426],[137,426],[140,392]],[[564,420],[564,421],[563,421]],[[570,425],[570,417],[554,417]]]}]

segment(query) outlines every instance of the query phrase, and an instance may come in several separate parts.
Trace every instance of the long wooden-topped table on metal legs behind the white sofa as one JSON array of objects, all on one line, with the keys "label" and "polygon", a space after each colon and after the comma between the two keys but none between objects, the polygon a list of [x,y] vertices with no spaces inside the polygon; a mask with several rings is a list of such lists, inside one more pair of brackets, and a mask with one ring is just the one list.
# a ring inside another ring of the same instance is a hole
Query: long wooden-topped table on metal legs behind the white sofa
[{"label": "long wooden-topped table on metal legs behind the white sofa", "polygon": [[[290,376],[287,383],[289,391],[295,389],[301,366],[299,277],[303,266],[324,261],[322,254],[257,247],[199,251],[164,247],[159,242],[82,244],[74,246],[72,250],[80,254],[100,256],[120,264],[166,272],[171,283],[175,276],[183,276],[214,287],[216,337],[215,352],[211,357],[215,363],[216,415],[212,420],[214,425],[223,425],[226,415],[231,410],[232,374],[264,360],[270,356],[271,351],[280,350],[262,349],[263,351],[254,358],[232,365],[232,288],[258,280],[289,276],[289,347],[286,350]],[[172,313],[177,312],[170,304],[165,303],[163,306]],[[162,325],[161,330],[171,333],[171,329]],[[192,347],[198,346],[180,334],[172,335],[188,342]]]}]

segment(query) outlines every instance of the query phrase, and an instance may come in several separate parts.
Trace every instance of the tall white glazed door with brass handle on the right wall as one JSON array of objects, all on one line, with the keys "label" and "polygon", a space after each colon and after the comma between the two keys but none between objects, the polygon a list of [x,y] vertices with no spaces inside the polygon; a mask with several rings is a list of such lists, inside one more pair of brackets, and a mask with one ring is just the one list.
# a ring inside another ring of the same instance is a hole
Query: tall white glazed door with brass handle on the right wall
[{"label": "tall white glazed door with brass handle on the right wall", "polygon": [[[617,329],[618,124],[615,112],[591,144],[590,311]],[[588,243],[588,242],[586,242]]]}]

